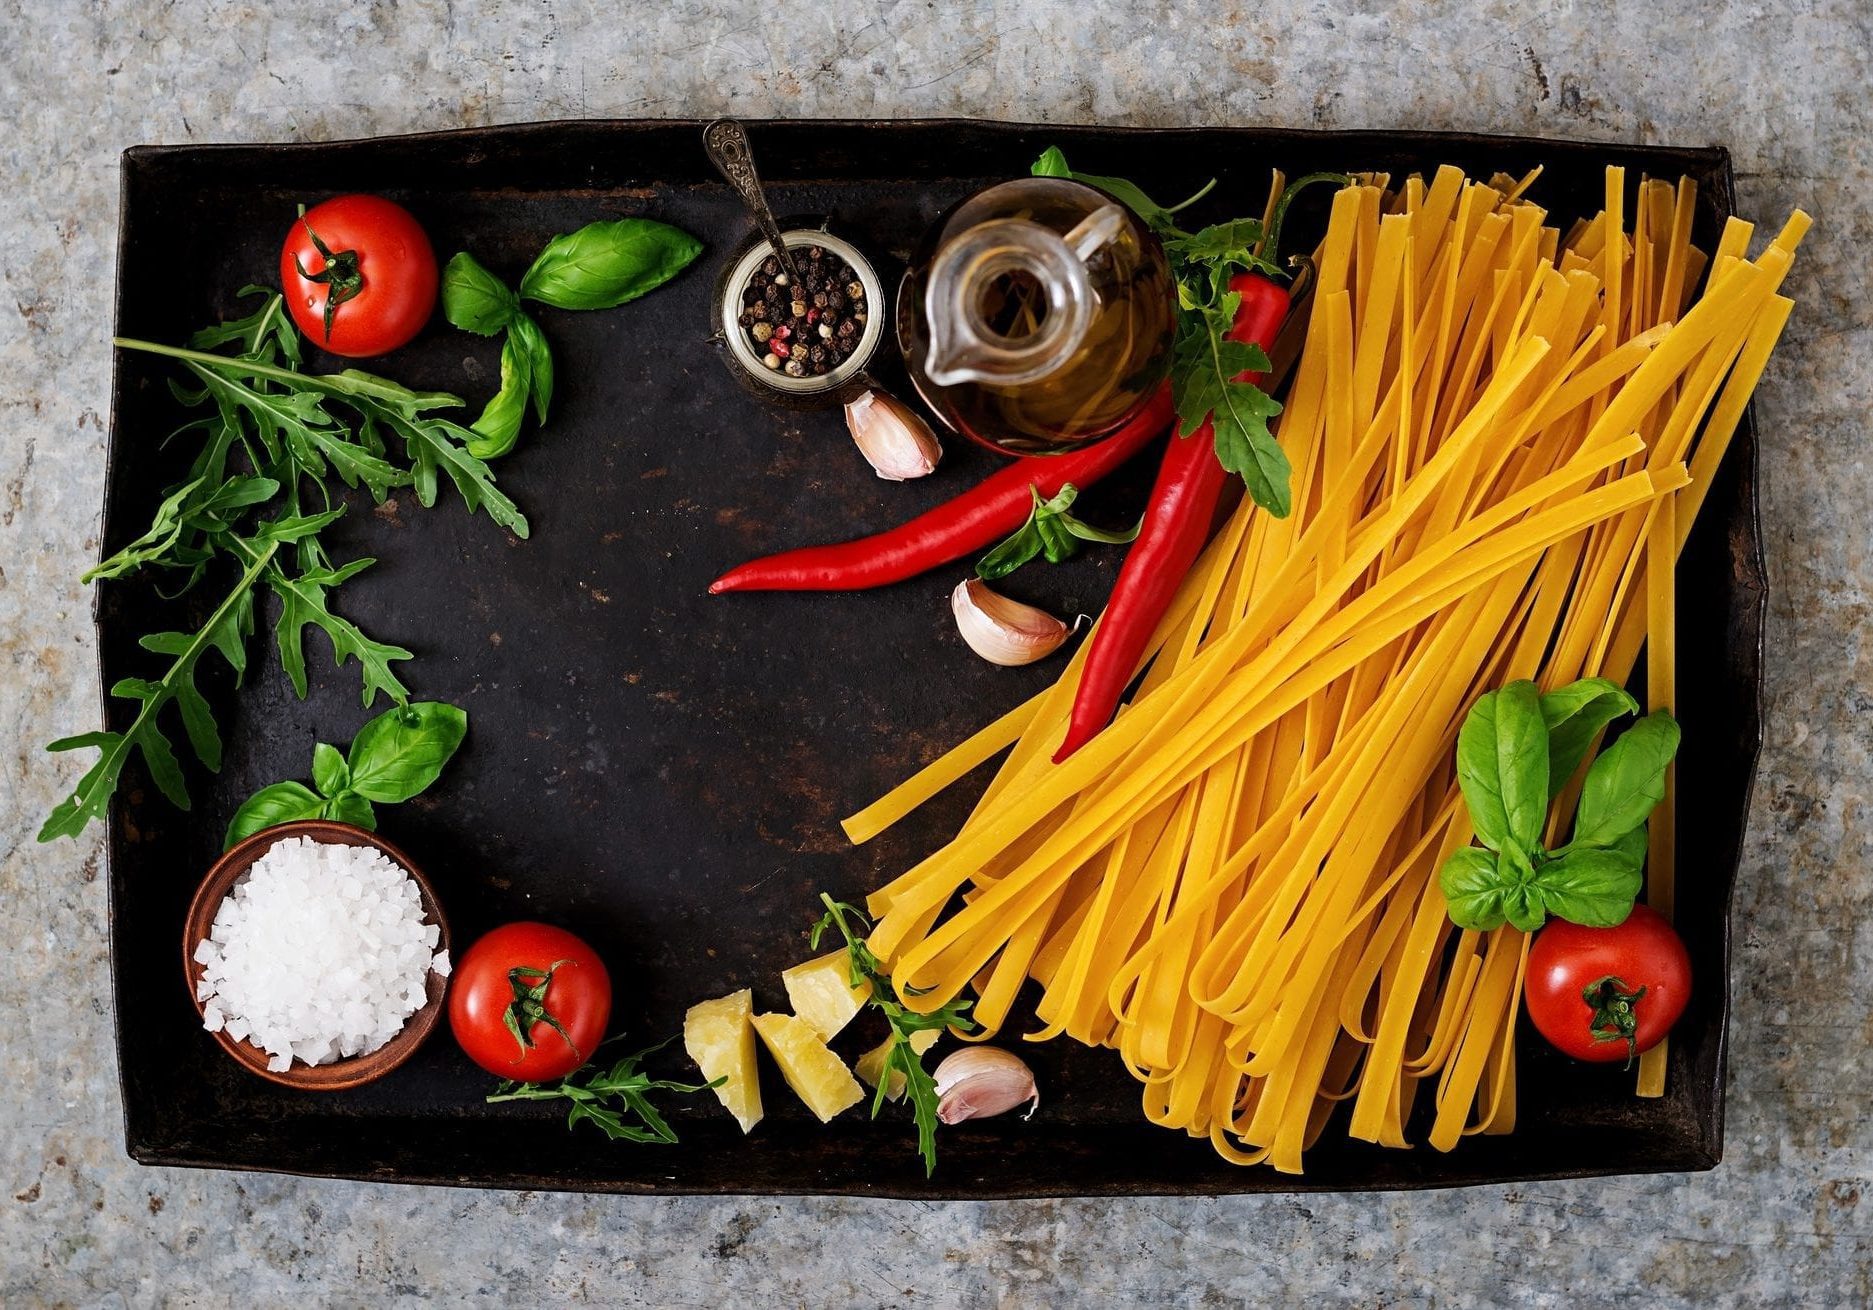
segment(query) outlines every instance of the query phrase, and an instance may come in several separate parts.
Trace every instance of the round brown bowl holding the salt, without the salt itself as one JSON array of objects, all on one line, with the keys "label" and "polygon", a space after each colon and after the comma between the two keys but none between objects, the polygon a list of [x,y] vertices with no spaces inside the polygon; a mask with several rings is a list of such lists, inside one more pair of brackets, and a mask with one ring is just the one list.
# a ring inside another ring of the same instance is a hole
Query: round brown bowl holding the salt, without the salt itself
[{"label": "round brown bowl holding the salt, without the salt itself", "polygon": [[[195,900],[189,901],[189,918],[182,928],[182,976],[187,980],[189,1005],[195,1006],[197,1014],[202,1014],[202,1003],[195,995],[195,986],[202,978],[202,965],[195,961],[195,948],[214,928],[215,913],[221,909],[221,901],[234,886],[234,881],[253,868],[255,860],[272,849],[275,841],[283,841],[287,838],[311,838],[313,841],[335,845],[367,845],[388,855],[410,875],[410,879],[414,879],[423,903],[423,922],[433,924],[438,930],[436,950],[450,948],[450,922],[442,916],[442,905],[436,903],[436,892],[429,886],[429,879],[423,877],[423,871],[416,868],[416,862],[408,855],[375,832],[354,828],[348,823],[332,823],[330,819],[300,819],[298,823],[281,823],[275,828],[255,832],[251,838],[227,851],[227,855],[215,860],[215,866],[208,870],[208,877],[202,879],[202,885],[195,888]],[[423,1044],[431,1029],[436,1027],[436,1020],[442,1016],[442,993],[446,990],[448,978],[431,969],[425,976],[423,1006],[408,1018],[397,1036],[390,1038],[384,1046],[367,1055],[354,1055],[350,1059],[333,1061],[332,1064],[305,1064],[303,1061],[294,1061],[287,1072],[277,1074],[266,1066],[266,1051],[253,1042],[236,1042],[227,1035],[227,1029],[215,1033],[214,1038],[221,1044],[221,1049],[232,1055],[247,1072],[257,1074],[270,1083],[298,1087],[302,1091],[348,1091],[352,1087],[375,1083],[378,1078],[384,1078],[416,1053],[416,1048]]]}]

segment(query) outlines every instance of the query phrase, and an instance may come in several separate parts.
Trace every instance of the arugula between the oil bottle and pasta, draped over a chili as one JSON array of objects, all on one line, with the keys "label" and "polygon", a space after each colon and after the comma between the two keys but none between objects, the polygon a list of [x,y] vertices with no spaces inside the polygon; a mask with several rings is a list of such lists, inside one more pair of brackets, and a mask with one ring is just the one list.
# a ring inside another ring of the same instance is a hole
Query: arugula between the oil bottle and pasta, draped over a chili
[{"label": "arugula between the oil bottle and pasta, draped over a chili", "polygon": [[1171,354],[1171,397],[1176,407],[1180,439],[1210,424],[1216,457],[1238,474],[1255,504],[1285,519],[1292,510],[1289,482],[1292,469],[1268,420],[1281,412],[1261,386],[1249,380],[1268,373],[1268,356],[1261,345],[1232,341],[1231,328],[1242,296],[1229,289],[1231,277],[1253,272],[1262,277],[1285,277],[1274,261],[1281,236],[1281,221],[1294,195],[1315,182],[1347,186],[1350,178],[1339,172],[1313,172],[1283,189],[1270,212],[1266,227],[1257,217],[1227,219],[1187,232],[1172,216],[1202,199],[1216,186],[1212,178],[1202,191],[1182,204],[1163,206],[1124,178],[1075,172],[1058,146],[1049,146],[1032,167],[1034,176],[1073,178],[1099,187],[1128,206],[1163,240],[1176,281],[1178,324]]}]

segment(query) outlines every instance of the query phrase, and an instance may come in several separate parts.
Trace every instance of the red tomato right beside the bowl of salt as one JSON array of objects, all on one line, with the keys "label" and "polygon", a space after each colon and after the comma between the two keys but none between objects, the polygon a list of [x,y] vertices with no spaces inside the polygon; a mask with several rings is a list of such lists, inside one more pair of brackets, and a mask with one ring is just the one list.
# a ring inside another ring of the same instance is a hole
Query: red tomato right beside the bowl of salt
[{"label": "red tomato right beside the bowl of salt", "polygon": [[476,1064],[517,1083],[584,1064],[611,1023],[611,975],[564,928],[508,924],[455,965],[450,1027]]}]

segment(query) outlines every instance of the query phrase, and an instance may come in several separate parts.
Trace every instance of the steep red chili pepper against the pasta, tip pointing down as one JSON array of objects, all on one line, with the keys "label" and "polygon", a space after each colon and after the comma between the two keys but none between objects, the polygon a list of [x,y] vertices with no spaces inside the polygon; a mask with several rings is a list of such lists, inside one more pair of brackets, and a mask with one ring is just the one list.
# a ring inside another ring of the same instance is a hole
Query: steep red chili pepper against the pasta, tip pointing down
[{"label": "steep red chili pepper against the pasta, tip pointing down", "polygon": [[[1242,294],[1236,320],[1229,330],[1234,341],[1259,347],[1274,345],[1281,320],[1287,319],[1287,287],[1259,274],[1236,274],[1229,289]],[[1244,373],[1240,382],[1261,384],[1264,379]],[[1216,502],[1223,495],[1229,470],[1216,457],[1216,429],[1208,420],[1189,437],[1172,437],[1165,461],[1158,469],[1150,504],[1139,540],[1126,553],[1126,562],[1113,583],[1113,598],[1105,618],[1092,635],[1086,667],[1079,675],[1073,697],[1073,716],[1066,729],[1054,763],[1077,752],[1113,722],[1118,697],[1131,682],[1158,620],[1171,607],[1171,598],[1182,585],[1189,566],[1197,562],[1202,543],[1210,538]]]}]

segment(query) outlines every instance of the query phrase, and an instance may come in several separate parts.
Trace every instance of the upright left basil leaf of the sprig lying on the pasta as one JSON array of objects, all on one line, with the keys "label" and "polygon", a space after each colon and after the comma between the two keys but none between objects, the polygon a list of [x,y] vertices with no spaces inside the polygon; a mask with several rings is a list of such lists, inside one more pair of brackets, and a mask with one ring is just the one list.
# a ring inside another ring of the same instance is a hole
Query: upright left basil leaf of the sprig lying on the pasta
[{"label": "upright left basil leaf of the sprig lying on the pasta", "polygon": [[1457,733],[1457,782],[1483,845],[1541,849],[1547,723],[1534,682],[1510,682],[1470,707]]}]

